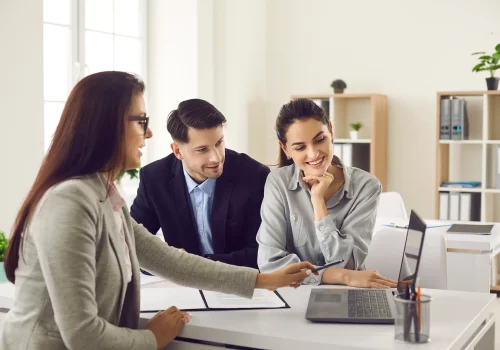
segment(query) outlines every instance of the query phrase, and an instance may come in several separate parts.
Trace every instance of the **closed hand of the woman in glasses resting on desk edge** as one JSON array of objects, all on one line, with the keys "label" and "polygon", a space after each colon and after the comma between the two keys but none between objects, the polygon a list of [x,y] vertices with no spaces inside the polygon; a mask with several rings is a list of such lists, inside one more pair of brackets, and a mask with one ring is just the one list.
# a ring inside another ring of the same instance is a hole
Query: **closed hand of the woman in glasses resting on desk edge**
[{"label": "closed hand of the woman in glasses resting on desk edge", "polygon": [[190,319],[187,312],[179,311],[175,306],[154,315],[148,322],[148,329],[155,335],[158,349],[163,349],[174,340]]}]

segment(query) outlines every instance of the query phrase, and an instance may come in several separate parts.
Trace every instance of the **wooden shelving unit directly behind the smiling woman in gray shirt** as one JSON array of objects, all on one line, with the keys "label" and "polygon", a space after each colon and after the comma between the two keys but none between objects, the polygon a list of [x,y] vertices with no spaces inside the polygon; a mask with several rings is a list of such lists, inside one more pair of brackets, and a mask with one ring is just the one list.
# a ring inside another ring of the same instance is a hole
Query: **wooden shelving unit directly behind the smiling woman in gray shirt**
[{"label": "wooden shelving unit directly behind the smiling woman in gray shirt", "polygon": [[[353,159],[368,159],[363,170],[375,175],[387,189],[387,96],[381,94],[292,95],[291,99],[324,101],[337,144],[353,144]],[[358,140],[349,136],[349,124],[361,122]],[[368,154],[359,154],[368,152]],[[356,155],[358,153],[358,155]]]}]

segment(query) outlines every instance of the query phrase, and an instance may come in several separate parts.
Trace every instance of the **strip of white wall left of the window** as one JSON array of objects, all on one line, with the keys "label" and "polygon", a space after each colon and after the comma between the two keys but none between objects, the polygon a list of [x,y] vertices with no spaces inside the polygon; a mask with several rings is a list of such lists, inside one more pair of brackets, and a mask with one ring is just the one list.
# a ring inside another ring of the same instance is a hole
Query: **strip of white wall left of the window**
[{"label": "strip of white wall left of the window", "polygon": [[0,1],[0,230],[10,232],[43,157],[42,1]]}]

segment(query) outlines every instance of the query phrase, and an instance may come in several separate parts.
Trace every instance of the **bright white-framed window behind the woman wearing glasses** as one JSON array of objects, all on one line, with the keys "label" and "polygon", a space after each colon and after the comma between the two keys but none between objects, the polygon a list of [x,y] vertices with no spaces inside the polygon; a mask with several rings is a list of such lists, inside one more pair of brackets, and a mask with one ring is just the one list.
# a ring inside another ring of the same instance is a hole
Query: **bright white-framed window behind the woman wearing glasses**
[{"label": "bright white-framed window behind the woman wearing glasses", "polygon": [[82,77],[121,70],[146,78],[146,1],[44,0],[45,150]]}]

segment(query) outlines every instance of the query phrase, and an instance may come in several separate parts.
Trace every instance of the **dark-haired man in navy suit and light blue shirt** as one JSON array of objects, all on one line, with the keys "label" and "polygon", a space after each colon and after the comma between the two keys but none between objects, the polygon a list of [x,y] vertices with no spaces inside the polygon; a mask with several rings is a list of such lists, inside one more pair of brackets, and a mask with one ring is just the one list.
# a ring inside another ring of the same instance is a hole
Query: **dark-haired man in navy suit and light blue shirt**
[{"label": "dark-haired man in navy suit and light blue shirt", "polygon": [[257,268],[256,235],[269,168],[226,149],[226,118],[210,103],[181,102],[167,121],[173,153],[140,171],[130,213],[189,253]]}]

